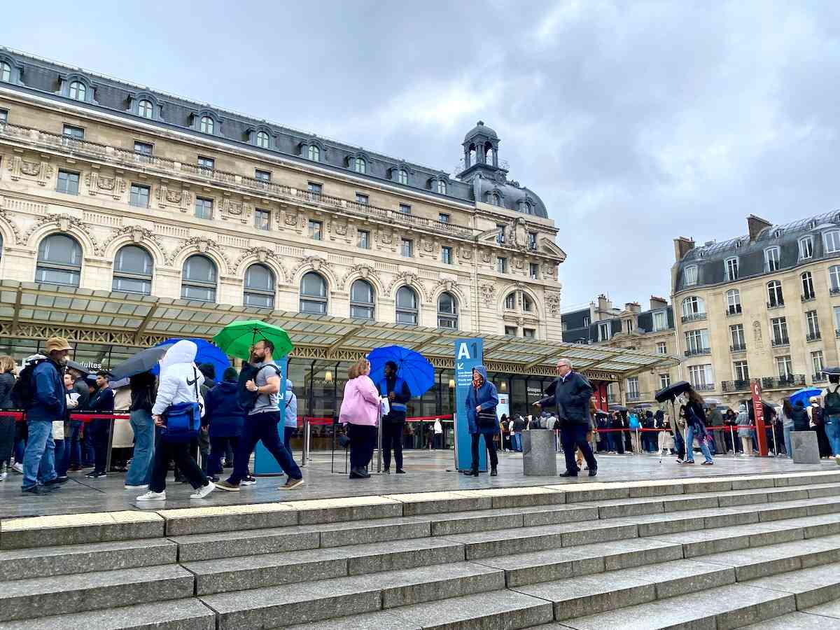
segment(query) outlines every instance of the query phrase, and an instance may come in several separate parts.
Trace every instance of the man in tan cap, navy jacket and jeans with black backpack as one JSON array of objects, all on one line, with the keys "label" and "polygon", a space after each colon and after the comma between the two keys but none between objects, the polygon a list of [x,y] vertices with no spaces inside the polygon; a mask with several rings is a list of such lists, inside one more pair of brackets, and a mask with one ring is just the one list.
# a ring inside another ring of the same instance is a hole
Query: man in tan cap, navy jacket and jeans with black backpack
[{"label": "man in tan cap, navy jacket and jeans with black backpack", "polygon": [[[55,443],[52,438],[52,423],[64,422],[67,402],[64,387],[64,364],[70,344],[63,337],[47,339],[48,358],[40,360],[34,367],[24,368],[20,387],[26,408],[26,426],[29,440],[24,451],[24,494],[43,495],[58,489],[67,480],[58,479],[55,474]],[[24,381],[25,380],[25,381]],[[43,485],[39,486],[38,482]]]}]

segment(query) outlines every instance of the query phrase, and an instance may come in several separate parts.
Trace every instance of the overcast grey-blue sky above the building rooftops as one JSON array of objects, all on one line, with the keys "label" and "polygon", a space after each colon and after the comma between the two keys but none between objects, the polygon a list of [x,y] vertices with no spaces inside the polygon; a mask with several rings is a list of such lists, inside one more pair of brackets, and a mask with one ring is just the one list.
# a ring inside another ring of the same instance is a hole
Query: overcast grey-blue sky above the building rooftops
[{"label": "overcast grey-blue sky above the building rooftops", "polygon": [[840,4],[8,3],[0,45],[452,170],[478,119],[563,309],[669,295],[673,239],[840,207]]}]

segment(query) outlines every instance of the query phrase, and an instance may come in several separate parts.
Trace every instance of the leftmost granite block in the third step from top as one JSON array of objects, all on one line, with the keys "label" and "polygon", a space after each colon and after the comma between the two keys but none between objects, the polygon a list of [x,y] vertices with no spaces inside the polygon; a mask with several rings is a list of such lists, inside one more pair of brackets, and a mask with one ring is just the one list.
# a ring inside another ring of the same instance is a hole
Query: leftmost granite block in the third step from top
[{"label": "leftmost granite block in the third step from top", "polygon": [[174,564],[0,582],[0,622],[181,599],[194,584]]}]

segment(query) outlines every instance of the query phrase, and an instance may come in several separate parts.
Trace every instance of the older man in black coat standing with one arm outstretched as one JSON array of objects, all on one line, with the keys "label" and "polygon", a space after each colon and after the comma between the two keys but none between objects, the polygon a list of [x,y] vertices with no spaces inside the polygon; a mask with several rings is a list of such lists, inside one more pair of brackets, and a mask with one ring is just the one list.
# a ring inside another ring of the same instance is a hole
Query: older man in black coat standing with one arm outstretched
[{"label": "older man in black coat standing with one arm outstretched", "polygon": [[578,466],[575,462],[575,448],[580,449],[586,465],[589,466],[589,476],[594,477],[598,471],[598,462],[592,454],[586,432],[589,430],[589,402],[592,397],[592,386],[583,376],[572,370],[572,362],[568,359],[557,361],[558,378],[549,386],[554,387],[554,394],[543,400],[534,402],[534,407],[557,407],[557,417],[560,421],[560,443],[566,457],[566,471],[561,477],[576,477]]}]

